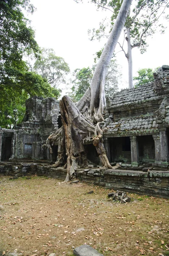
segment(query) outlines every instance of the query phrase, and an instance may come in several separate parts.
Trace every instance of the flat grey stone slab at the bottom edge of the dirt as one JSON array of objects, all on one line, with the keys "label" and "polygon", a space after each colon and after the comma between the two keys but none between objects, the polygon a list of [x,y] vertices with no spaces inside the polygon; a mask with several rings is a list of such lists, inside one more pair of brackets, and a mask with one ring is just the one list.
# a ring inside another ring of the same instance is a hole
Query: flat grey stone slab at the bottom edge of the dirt
[{"label": "flat grey stone slab at the bottom edge of the dirt", "polygon": [[90,245],[83,244],[76,247],[73,250],[73,255],[75,256],[103,256],[103,254],[98,253],[97,250],[93,249]]}]

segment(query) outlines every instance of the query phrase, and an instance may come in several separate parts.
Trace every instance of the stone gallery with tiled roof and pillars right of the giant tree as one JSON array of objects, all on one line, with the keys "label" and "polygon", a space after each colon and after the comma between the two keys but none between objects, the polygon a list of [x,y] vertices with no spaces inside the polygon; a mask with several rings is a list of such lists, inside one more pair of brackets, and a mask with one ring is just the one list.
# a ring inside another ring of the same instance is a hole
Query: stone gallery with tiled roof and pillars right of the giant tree
[{"label": "stone gallery with tiled roof and pillars right of the giant tree", "polygon": [[154,76],[155,82],[122,90],[109,101],[104,141],[110,161],[168,166],[169,66]]}]

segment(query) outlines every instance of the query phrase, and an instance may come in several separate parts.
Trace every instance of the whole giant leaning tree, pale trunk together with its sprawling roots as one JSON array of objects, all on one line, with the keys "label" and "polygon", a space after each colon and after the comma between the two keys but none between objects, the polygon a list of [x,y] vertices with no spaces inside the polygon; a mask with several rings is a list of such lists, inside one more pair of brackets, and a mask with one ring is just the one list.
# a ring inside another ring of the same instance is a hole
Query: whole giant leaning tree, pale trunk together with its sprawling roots
[{"label": "whole giant leaning tree, pale trunk together with its sprawling roots", "polygon": [[103,133],[106,131],[106,129],[102,129],[105,106],[104,82],[107,67],[124,27],[131,1],[124,0],[121,5],[112,32],[96,66],[90,87],[82,99],[77,105],[74,105],[68,96],[64,96],[60,101],[62,128],[48,137],[48,144],[53,143],[54,145],[56,140],[59,140],[58,159],[54,166],[65,164],[67,169],[65,181],[73,178],[78,166],[87,166],[83,142],[84,140],[91,140],[91,137],[93,137],[93,145],[96,147],[103,167],[112,168],[103,144]]}]

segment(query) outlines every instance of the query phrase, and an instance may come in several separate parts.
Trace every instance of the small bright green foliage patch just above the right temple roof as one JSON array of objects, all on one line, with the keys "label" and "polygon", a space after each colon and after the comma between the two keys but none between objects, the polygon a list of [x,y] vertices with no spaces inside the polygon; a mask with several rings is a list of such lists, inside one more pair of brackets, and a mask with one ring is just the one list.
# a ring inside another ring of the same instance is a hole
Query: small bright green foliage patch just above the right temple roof
[{"label": "small bright green foliage patch just above the right temple roof", "polygon": [[142,68],[137,71],[138,76],[133,77],[133,80],[135,82],[135,88],[140,86],[141,84],[145,84],[148,82],[153,82],[154,81],[154,76],[153,73],[157,71],[158,68],[155,70],[152,70],[152,68]]}]

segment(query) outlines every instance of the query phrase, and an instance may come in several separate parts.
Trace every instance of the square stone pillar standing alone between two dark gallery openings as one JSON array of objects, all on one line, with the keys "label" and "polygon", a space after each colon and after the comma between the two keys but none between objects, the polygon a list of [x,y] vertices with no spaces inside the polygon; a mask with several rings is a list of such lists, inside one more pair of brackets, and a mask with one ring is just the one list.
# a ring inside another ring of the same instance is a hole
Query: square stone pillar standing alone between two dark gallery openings
[{"label": "square stone pillar standing alone between two dark gallery openings", "polygon": [[131,160],[132,160],[132,166],[138,166],[139,161],[139,153],[138,153],[138,140],[137,136],[131,136],[130,137],[130,143],[131,143]]}]

